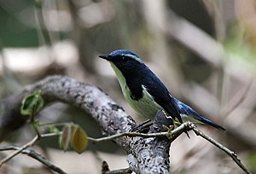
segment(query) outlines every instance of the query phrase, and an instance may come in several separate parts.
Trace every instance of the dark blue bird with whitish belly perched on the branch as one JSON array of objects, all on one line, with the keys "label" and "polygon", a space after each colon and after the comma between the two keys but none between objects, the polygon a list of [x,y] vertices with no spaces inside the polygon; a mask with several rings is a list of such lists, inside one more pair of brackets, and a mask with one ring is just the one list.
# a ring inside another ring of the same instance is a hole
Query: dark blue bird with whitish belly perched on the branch
[{"label": "dark blue bird with whitish belly perched on the branch", "polygon": [[155,114],[163,110],[173,120],[180,124],[183,121],[211,125],[224,131],[224,127],[207,119],[194,109],[179,101],[167,90],[163,84],[135,53],[127,49],[117,49],[109,55],[99,55],[109,61],[118,78],[126,102],[150,120]]}]

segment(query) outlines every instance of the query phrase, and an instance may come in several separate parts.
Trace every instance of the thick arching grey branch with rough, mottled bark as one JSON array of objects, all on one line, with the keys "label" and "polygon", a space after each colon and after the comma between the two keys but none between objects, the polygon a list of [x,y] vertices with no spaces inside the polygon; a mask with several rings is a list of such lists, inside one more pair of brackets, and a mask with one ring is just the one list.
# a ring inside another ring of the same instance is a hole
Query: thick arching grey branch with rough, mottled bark
[{"label": "thick arching grey branch with rough, mottled bark", "polygon": [[[66,102],[90,113],[109,136],[130,131],[135,125],[134,120],[122,107],[113,102],[102,90],[72,78],[51,76],[0,102],[1,141],[26,123],[27,117],[20,115],[20,105],[22,99],[34,90],[41,90],[45,104]],[[115,139],[115,142],[129,154],[128,163],[133,171],[169,173],[168,157],[171,142],[167,138],[122,136]]]}]

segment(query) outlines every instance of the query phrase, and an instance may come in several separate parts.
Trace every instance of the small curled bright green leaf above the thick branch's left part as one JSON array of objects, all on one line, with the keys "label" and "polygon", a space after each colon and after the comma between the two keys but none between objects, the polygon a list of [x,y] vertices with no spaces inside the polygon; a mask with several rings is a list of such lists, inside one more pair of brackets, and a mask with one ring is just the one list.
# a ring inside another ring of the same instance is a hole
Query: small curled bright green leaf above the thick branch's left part
[{"label": "small curled bright green leaf above the thick branch's left part", "polygon": [[38,113],[42,107],[44,107],[44,99],[41,96],[41,91],[36,90],[32,95],[26,96],[23,99],[20,113],[22,115],[34,115]]}]

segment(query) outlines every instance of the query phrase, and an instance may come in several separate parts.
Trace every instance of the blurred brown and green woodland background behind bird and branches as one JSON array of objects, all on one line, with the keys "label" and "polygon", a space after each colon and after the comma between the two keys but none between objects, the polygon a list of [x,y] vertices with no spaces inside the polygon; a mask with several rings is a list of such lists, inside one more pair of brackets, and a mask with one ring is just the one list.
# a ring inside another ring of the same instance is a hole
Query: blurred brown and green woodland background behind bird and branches
[{"label": "blurred brown and green woodland background behind bird and branches", "polygon": [[[198,125],[235,151],[256,171],[256,1],[253,0],[0,0],[0,96],[19,92],[48,75],[62,74],[107,92],[137,122],[107,61],[114,49],[130,49],[167,85],[172,95],[223,125]],[[42,111],[43,123],[79,123],[89,136],[102,131],[90,115],[56,103]],[[26,125],[3,144],[22,145],[35,133]],[[193,132],[171,147],[172,173],[242,173],[227,154]],[[34,148],[68,173],[125,168],[125,152],[113,142],[83,154],[66,153],[57,138]],[[3,158],[3,154],[0,154]],[[25,155],[0,173],[52,173]]]}]

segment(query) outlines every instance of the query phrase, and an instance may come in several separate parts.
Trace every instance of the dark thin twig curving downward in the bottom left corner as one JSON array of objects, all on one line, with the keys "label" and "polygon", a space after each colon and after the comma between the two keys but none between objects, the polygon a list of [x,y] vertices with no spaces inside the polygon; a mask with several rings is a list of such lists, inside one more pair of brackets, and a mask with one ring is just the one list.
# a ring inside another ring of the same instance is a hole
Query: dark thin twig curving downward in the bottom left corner
[{"label": "dark thin twig curving downward in the bottom left corner", "polygon": [[[20,147],[16,147],[16,146],[12,146],[12,145],[0,147],[0,151],[4,151],[4,150],[19,151],[20,149],[21,149]],[[41,162],[43,165],[47,166],[52,171],[55,171],[60,174],[67,174],[67,172],[62,171],[60,167],[56,166],[55,164],[50,162],[48,159],[45,159],[43,156],[41,156],[41,154],[38,154],[37,152],[35,152],[32,149],[23,149],[23,150],[21,150],[20,153],[27,154],[28,156],[32,157],[33,159],[38,160],[39,162]]]}]

